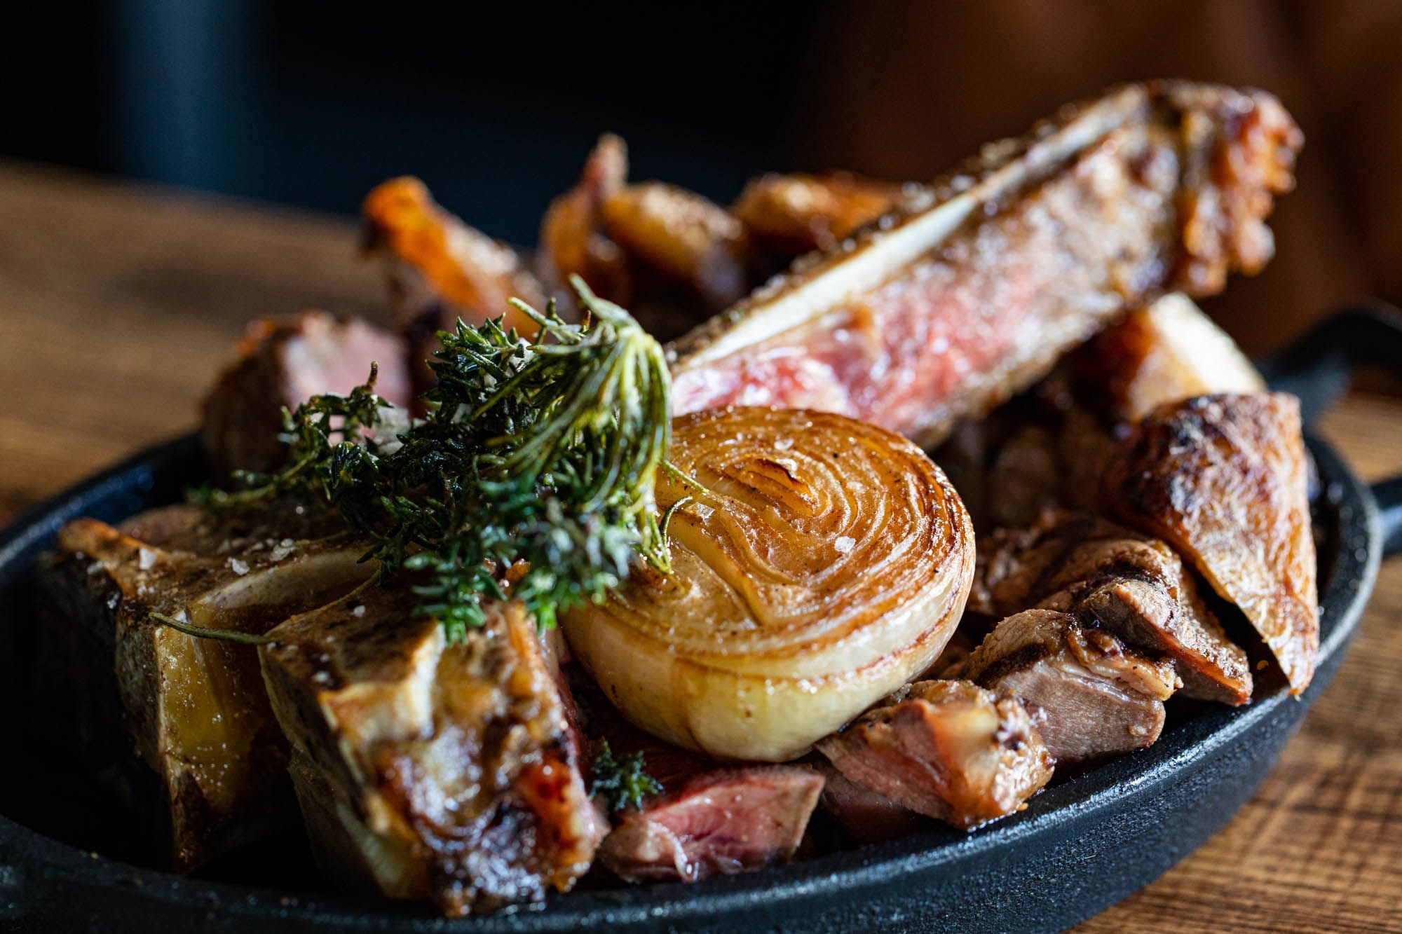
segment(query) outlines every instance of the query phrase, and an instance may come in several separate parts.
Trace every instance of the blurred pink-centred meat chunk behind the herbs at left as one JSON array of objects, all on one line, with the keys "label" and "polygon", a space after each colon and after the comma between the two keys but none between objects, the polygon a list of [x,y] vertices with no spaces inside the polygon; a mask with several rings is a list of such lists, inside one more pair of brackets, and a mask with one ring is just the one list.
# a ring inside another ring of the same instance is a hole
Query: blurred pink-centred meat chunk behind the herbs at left
[{"label": "blurred pink-centred meat chunk behind the herbs at left", "polygon": [[205,452],[216,474],[280,464],[286,452],[278,439],[282,410],[320,393],[349,393],[366,381],[372,363],[379,365],[376,391],[395,405],[409,405],[408,346],[373,324],[303,311],[290,321],[248,325],[234,362],[205,397]]}]

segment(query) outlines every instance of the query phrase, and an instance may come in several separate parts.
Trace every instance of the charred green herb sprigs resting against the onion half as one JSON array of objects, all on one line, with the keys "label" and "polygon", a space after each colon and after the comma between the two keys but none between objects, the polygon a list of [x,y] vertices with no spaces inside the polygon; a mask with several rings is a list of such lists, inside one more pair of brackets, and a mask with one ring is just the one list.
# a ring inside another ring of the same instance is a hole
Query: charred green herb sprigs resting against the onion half
[{"label": "charred green herb sprigs resting against the onion half", "polygon": [[374,394],[372,370],[349,395],[285,417],[286,467],[205,501],[327,502],[373,540],[366,558],[383,578],[414,572],[419,613],[450,639],[484,624],[486,600],[520,600],[544,630],[601,600],[635,555],[669,571],[653,496],[672,438],[662,348],[578,276],[571,283],[583,324],[513,300],[540,327],[534,338],[501,318],[440,331],[426,415],[393,440],[387,415],[398,410]]}]

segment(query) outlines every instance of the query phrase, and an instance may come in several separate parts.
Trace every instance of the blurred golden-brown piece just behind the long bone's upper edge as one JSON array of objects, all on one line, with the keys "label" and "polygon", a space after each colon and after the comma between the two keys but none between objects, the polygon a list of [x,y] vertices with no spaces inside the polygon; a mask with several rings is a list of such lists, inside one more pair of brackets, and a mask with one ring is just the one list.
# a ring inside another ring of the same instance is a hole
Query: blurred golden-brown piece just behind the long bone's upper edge
[{"label": "blurred golden-brown piece just behind the long bone's upper edge", "polygon": [[799,255],[829,250],[896,206],[900,185],[850,172],[765,174],[740,192],[732,213],[771,250]]}]

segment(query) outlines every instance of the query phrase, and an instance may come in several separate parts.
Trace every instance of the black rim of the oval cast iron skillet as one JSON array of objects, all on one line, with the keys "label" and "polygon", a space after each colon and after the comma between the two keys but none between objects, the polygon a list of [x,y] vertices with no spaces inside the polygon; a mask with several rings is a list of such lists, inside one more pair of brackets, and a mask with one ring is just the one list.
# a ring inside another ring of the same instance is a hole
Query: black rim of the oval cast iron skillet
[{"label": "black rim of the oval cast iron skillet", "polygon": [[[764,872],[723,877],[704,882],[660,884],[613,891],[552,896],[543,909],[508,910],[495,916],[442,919],[425,906],[376,905],[348,898],[290,895],[275,889],[182,878],[153,868],[129,865],[87,853],[46,837],[0,815],[0,847],[7,853],[14,885],[70,885],[136,889],[142,898],[196,912],[257,921],[328,926],[335,930],[478,930],[554,931],[580,927],[634,924],[688,926],[743,917],[760,903],[791,902],[795,909],[834,896],[862,898],[876,886],[889,886],[941,865],[1016,847],[1066,825],[1089,819],[1124,798],[1152,792],[1173,781],[1190,766],[1221,750],[1237,738],[1272,719],[1283,704],[1312,704],[1338,666],[1339,655],[1357,628],[1373,590],[1381,561],[1381,529],[1373,494],[1326,443],[1307,435],[1319,468],[1329,509],[1336,519],[1335,564],[1321,595],[1323,613],[1321,673],[1301,698],[1277,693],[1244,708],[1216,708],[1178,724],[1152,747],[1110,762],[1037,795],[1028,811],[973,834],[932,830],[857,850],[843,850],[815,860]],[[94,503],[150,489],[156,470],[198,460],[199,445],[188,435],[147,449],[93,478],[28,509],[0,533],[0,588],[14,586],[29,574],[32,555],[57,527],[84,515]],[[137,499],[130,502],[136,503]],[[135,508],[133,510],[135,512]],[[1280,711],[1286,712],[1286,711]],[[1293,715],[1294,712],[1290,711]],[[3,889],[6,886],[0,886]],[[822,896],[822,898],[819,898]],[[1105,907],[1087,905],[1085,916]]]}]

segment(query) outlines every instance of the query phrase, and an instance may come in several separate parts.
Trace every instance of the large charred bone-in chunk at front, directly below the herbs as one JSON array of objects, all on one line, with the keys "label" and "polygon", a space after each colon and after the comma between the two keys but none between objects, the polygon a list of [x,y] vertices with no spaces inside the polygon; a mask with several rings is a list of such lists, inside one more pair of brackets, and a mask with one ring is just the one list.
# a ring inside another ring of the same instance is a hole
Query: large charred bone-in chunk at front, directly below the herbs
[{"label": "large charred bone-in chunk at front, directly below the herbs", "polygon": [[259,649],[328,872],[446,914],[538,902],[603,836],[536,627],[496,604],[449,645],[408,583],[367,583]]}]

